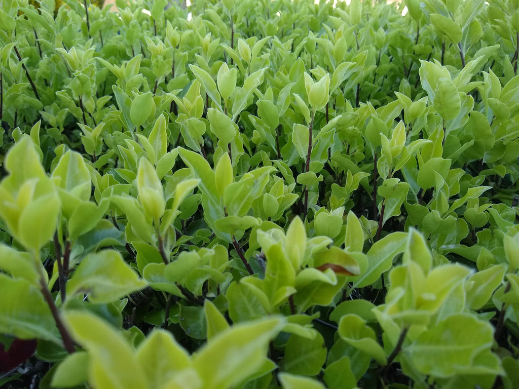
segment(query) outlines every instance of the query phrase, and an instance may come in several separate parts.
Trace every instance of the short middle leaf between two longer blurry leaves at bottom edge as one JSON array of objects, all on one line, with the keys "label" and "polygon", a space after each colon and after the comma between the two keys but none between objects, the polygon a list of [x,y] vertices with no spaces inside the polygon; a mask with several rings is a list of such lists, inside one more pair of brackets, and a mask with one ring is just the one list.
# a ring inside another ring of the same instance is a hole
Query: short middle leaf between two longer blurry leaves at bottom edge
[{"label": "short middle leaf between two longer blurry leaves at bottom edge", "polygon": [[162,387],[174,379],[177,374],[192,367],[189,354],[176,342],[170,334],[154,329],[136,352],[147,387]]}]

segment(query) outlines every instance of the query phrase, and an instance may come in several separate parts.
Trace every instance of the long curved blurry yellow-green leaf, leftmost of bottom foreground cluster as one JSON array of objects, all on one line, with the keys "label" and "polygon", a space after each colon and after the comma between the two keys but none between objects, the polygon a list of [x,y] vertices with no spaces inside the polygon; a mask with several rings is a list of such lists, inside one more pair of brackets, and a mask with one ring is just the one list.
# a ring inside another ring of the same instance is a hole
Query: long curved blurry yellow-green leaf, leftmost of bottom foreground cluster
[{"label": "long curved blurry yellow-green leaf, leftmost of bottom foreground cluster", "polygon": [[95,387],[142,389],[143,369],[120,332],[87,312],[66,312],[73,338],[90,356],[89,382]]}]

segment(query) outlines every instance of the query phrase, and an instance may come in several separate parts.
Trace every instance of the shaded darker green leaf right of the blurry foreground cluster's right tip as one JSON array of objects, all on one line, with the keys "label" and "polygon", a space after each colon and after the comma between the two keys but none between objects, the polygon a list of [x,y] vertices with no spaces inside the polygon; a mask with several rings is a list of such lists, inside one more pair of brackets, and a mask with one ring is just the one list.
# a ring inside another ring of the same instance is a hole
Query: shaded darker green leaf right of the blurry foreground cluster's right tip
[{"label": "shaded darker green leaf right of the blurry foreground cluster's right tip", "polygon": [[302,376],[316,376],[326,360],[324,339],[319,332],[313,339],[293,334],[286,342],[282,370]]}]

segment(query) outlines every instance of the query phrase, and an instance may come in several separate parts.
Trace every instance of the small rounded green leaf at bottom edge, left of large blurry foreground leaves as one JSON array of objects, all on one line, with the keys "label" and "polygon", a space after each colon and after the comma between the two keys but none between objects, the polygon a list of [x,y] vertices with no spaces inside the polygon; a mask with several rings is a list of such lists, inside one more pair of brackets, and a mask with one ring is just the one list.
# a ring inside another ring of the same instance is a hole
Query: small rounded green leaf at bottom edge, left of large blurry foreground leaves
[{"label": "small rounded green leaf at bottom edge, left of large blurry foreground leaves", "polygon": [[51,385],[72,387],[86,382],[89,364],[90,360],[86,352],[79,351],[67,356],[54,372]]}]

